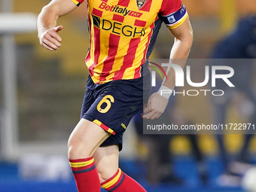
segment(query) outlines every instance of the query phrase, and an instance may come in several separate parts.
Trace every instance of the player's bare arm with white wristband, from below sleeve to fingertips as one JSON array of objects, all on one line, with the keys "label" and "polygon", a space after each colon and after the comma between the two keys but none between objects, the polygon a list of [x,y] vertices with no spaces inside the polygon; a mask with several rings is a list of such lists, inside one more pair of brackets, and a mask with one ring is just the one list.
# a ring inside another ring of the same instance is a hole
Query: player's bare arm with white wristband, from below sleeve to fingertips
[{"label": "player's bare arm with white wristband, from below sleeve to fingertips", "polygon": [[[170,53],[170,62],[183,68],[193,42],[193,30],[190,26],[189,17],[187,16],[184,23],[180,26],[174,29],[169,29],[169,31],[175,37],[175,42]],[[164,79],[160,89],[165,87],[165,89],[173,90],[175,87],[175,71],[174,69],[169,68],[166,73],[167,78]],[[143,111],[142,117],[152,120],[160,117],[168,104],[167,98],[161,96],[160,91],[153,93],[148,99],[148,103]]]}]

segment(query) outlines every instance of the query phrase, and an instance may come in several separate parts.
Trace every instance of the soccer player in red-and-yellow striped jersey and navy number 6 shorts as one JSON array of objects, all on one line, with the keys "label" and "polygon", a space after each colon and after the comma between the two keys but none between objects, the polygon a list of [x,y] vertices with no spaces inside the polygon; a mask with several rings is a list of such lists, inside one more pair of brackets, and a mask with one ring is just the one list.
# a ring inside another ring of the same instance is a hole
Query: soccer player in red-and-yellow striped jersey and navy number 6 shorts
[{"label": "soccer player in red-and-yellow striped jersey and navy number 6 shorts", "polygon": [[[61,47],[58,32],[63,26],[56,26],[56,20],[82,2],[53,0],[42,9],[38,38],[43,47]],[[150,93],[147,60],[162,22],[175,37],[170,58],[187,59],[193,39],[187,11],[181,0],[88,0],[87,4],[90,50],[85,62],[90,75],[81,120],[69,138],[72,172],[80,192],[97,192],[100,186],[114,192],[145,191],[118,169],[122,136]],[[184,62],[178,65],[183,67]],[[160,89],[172,90],[175,73],[169,70],[167,75]],[[152,94],[143,117],[159,117],[168,98]]]}]

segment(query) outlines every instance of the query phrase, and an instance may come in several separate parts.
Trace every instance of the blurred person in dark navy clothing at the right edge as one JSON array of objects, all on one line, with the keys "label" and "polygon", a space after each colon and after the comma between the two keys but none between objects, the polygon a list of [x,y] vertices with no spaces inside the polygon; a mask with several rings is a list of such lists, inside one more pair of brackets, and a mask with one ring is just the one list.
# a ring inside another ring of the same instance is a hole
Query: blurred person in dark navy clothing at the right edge
[{"label": "blurred person in dark navy clothing at the right edge", "polygon": [[[228,87],[224,81],[216,82],[216,89],[224,90],[225,94],[221,96],[221,99],[212,98],[213,107],[215,108],[215,123],[227,123],[227,107],[234,96],[237,96],[237,93],[242,93],[251,102],[253,106],[251,112],[249,108],[246,108],[245,113],[251,116],[251,120],[248,123],[256,123],[256,96],[251,87],[254,64],[252,59],[256,58],[256,15],[239,20],[236,29],[218,42],[211,58],[221,59],[218,60],[218,64],[215,62],[213,65],[230,66],[235,72],[235,75],[230,78],[230,81],[235,85],[234,89]],[[242,62],[241,59],[247,60]],[[242,150],[236,158],[236,163],[230,163],[228,158],[230,156],[227,156],[227,151],[224,147],[224,137],[223,135],[217,135],[221,160],[226,171],[218,180],[221,185],[233,186],[239,184],[237,175],[242,174],[245,169],[242,171],[238,166],[246,167],[245,163],[249,163],[248,145],[253,136],[245,135]],[[238,169],[241,172],[237,172]]]}]

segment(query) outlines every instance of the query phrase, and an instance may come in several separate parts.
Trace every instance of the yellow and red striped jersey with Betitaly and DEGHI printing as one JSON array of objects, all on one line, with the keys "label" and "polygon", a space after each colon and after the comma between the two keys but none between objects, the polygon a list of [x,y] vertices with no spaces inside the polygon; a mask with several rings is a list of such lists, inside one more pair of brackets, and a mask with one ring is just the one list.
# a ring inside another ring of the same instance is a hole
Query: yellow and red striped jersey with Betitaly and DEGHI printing
[{"label": "yellow and red striped jersey with Betitaly and DEGHI printing", "polygon": [[[80,5],[84,0],[72,0]],[[87,0],[90,49],[85,62],[93,82],[142,76],[161,23],[170,29],[187,17],[181,0]]]}]

